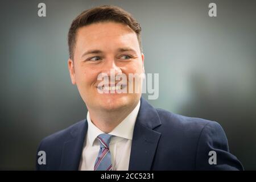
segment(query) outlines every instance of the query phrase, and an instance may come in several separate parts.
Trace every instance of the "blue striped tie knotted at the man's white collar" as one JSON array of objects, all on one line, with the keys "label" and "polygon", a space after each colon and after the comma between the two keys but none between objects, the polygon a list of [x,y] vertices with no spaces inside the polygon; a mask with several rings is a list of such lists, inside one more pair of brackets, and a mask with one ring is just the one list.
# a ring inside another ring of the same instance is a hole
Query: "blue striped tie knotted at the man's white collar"
[{"label": "blue striped tie knotted at the man's white collar", "polygon": [[112,135],[100,134],[97,139],[100,141],[100,151],[94,164],[94,171],[112,171],[111,154],[109,151],[109,142]]}]

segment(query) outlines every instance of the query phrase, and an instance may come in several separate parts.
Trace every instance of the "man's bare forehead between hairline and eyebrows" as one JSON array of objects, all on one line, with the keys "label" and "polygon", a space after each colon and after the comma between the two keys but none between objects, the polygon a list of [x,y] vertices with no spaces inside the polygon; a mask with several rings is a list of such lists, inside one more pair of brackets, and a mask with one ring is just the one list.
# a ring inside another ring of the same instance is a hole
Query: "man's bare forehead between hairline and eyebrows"
[{"label": "man's bare forehead between hairline and eyebrows", "polygon": [[[127,25],[115,22],[93,23],[79,28],[76,49],[113,48],[118,46],[139,48],[136,33]],[[81,50],[81,51],[82,51]]]}]

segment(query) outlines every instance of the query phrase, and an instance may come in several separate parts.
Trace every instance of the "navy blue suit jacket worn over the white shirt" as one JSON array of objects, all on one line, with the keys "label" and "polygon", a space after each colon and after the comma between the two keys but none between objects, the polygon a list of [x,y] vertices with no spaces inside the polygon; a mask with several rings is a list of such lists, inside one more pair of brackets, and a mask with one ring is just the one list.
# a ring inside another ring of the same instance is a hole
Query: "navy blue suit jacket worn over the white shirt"
[{"label": "navy blue suit jacket worn over the white shirt", "polygon": [[[38,170],[77,170],[88,123],[82,120],[42,140],[38,151],[46,152],[46,164]],[[217,164],[209,164],[216,151]],[[214,121],[185,117],[155,109],[141,98],[134,126],[129,170],[242,170],[229,153],[222,127]]]}]

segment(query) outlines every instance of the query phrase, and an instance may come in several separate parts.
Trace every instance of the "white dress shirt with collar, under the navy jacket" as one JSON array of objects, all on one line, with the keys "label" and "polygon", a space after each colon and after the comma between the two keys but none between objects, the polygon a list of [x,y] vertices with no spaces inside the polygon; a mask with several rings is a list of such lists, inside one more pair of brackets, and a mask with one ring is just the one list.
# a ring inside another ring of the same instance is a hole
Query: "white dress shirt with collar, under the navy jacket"
[{"label": "white dress shirt with collar, under the navy jacket", "polygon": [[[109,150],[114,171],[127,171],[129,168],[131,140],[133,139],[134,125],[140,105],[141,101],[139,101],[133,111],[109,133],[113,135],[110,140]],[[96,138],[104,132],[92,123],[89,111],[87,113],[87,121],[88,130],[85,136],[79,170],[93,171],[98,151],[100,150],[100,142]]]}]

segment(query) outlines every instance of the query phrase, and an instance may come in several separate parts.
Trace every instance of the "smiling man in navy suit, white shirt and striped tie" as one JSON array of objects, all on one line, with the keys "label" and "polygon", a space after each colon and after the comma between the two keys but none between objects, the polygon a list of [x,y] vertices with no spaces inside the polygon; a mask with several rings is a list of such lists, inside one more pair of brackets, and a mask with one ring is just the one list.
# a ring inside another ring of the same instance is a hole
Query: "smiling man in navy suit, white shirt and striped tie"
[{"label": "smiling man in navy suit, white shirt and striped tie", "polygon": [[[141,85],[135,79],[99,86],[101,74],[109,80],[112,71],[144,73],[141,27],[129,13],[115,6],[84,11],[72,22],[68,45],[71,81],[88,114],[42,140],[46,163],[38,156],[38,170],[243,169],[217,122],[155,109],[141,92],[118,93]],[[106,90],[113,92],[100,92]]]}]

